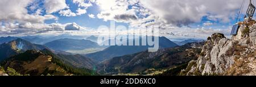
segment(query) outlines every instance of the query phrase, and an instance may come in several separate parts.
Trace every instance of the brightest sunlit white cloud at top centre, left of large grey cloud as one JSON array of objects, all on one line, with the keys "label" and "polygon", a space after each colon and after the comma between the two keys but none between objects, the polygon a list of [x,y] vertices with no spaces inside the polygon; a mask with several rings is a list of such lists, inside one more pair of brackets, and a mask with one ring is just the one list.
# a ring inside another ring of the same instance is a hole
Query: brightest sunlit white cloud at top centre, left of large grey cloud
[{"label": "brightest sunlit white cloud at top centre, left of large grey cloud", "polygon": [[115,20],[117,22],[131,23],[137,20],[137,15],[135,15],[135,10],[128,10],[129,5],[133,5],[131,1],[102,1],[97,0],[95,3],[100,7],[101,13],[97,14],[100,19]]}]

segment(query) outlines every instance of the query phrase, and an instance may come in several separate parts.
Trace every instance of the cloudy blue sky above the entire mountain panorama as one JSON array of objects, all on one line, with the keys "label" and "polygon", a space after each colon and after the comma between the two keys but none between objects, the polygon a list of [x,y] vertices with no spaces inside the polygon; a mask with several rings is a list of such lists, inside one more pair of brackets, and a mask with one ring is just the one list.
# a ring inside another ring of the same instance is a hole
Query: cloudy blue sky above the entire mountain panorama
[{"label": "cloudy blue sky above the entire mountain panorama", "polygon": [[[230,36],[243,0],[1,0],[0,36],[97,35],[101,25],[144,29],[167,38]],[[254,4],[254,1],[253,1]],[[244,15],[249,0],[242,8]],[[241,17],[243,18],[243,17]]]}]

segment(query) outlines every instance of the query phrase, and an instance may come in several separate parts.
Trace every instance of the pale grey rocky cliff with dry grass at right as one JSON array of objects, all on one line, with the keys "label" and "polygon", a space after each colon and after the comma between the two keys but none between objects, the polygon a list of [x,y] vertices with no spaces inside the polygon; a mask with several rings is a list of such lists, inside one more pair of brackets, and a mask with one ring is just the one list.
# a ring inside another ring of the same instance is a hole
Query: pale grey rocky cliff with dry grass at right
[{"label": "pale grey rocky cliff with dry grass at right", "polygon": [[232,39],[216,33],[208,38],[197,60],[183,75],[256,75],[256,24],[241,26]]}]

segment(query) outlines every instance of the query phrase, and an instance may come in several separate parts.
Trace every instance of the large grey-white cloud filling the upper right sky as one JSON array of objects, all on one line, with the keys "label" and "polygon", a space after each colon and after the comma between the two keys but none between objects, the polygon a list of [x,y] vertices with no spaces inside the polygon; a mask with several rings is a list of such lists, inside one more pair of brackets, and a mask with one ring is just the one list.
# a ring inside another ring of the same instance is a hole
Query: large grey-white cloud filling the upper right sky
[{"label": "large grey-white cloud filling the upper right sky", "polygon": [[150,2],[141,0],[144,7],[151,10],[164,23],[176,26],[187,26],[188,24],[200,22],[203,16],[209,16],[210,20],[218,19],[221,22],[229,22],[234,18],[237,9],[240,8],[239,0],[152,0]]}]

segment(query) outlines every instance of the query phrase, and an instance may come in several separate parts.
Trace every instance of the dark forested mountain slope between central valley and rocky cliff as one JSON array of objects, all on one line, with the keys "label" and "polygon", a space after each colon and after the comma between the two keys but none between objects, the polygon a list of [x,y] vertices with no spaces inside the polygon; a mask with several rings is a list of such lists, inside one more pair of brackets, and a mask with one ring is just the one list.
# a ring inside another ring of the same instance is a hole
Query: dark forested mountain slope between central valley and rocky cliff
[{"label": "dark forested mountain slope between central valley and rocky cliff", "polygon": [[114,57],[98,65],[105,74],[141,73],[148,69],[173,68],[197,59],[204,43],[189,43],[180,47],[143,51],[132,55]]}]

